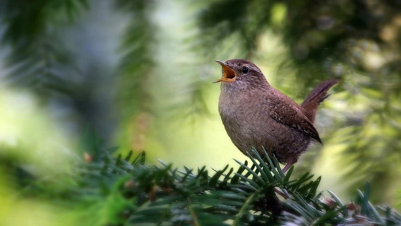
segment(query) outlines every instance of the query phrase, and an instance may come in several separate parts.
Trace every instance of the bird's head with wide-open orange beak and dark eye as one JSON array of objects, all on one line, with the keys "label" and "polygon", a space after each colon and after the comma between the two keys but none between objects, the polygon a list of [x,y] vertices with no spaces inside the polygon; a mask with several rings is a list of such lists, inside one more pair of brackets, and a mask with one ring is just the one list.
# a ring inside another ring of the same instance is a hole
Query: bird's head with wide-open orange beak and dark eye
[{"label": "bird's head with wide-open orange beak and dark eye", "polygon": [[223,76],[213,83],[222,82],[222,87],[246,88],[268,84],[261,70],[249,60],[233,59],[226,62],[215,60],[215,62],[223,68]]}]

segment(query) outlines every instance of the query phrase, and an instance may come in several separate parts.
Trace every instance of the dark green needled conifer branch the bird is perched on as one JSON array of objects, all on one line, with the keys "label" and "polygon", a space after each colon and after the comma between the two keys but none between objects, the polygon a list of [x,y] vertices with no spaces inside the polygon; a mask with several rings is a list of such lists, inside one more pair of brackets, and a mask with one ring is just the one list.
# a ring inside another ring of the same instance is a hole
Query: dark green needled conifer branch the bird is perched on
[{"label": "dark green needled conifer branch the bird is perched on", "polygon": [[[369,202],[369,183],[356,203],[344,205],[330,191],[332,198],[317,193],[320,177],[313,180],[306,172],[293,179],[293,167],[285,175],[275,158],[262,160],[255,149],[249,156],[255,157],[252,164],[236,160],[236,173],[228,165],[214,173],[205,166],[193,173],[161,160],[162,166],[145,164],[144,152],[135,158],[132,152],[125,158],[104,152],[100,161],[81,166],[75,191],[78,197],[99,201],[119,197],[118,205],[112,202],[117,206],[105,222],[109,225],[401,224],[400,215],[389,207],[381,207],[379,215]],[[288,198],[277,197],[274,188]]]}]

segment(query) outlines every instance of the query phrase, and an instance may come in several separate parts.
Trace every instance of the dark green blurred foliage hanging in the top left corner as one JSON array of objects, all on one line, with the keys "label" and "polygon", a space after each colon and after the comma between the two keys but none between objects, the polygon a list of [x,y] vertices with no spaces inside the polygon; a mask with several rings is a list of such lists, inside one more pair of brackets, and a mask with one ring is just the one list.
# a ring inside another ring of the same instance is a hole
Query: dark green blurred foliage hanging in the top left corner
[{"label": "dark green blurred foliage hanging in the top left corner", "polygon": [[6,58],[9,81],[42,95],[51,91],[74,95],[61,74],[77,71],[68,66],[71,53],[56,31],[86,7],[86,0],[2,1],[0,12],[6,29],[1,42],[12,46]]}]

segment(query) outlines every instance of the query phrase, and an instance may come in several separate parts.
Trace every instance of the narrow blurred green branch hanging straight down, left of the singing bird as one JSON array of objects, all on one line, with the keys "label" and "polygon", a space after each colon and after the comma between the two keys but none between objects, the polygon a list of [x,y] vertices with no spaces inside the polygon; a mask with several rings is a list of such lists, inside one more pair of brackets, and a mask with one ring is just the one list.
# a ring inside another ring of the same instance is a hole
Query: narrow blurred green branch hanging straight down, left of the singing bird
[{"label": "narrow blurred green branch hanging straight down, left of the singing bird", "polygon": [[[124,117],[140,112],[150,112],[151,97],[148,91],[149,79],[154,74],[155,25],[151,21],[152,1],[118,0],[118,10],[129,16],[128,26],[122,37],[119,51],[119,102]],[[127,105],[129,103],[129,105]]]}]

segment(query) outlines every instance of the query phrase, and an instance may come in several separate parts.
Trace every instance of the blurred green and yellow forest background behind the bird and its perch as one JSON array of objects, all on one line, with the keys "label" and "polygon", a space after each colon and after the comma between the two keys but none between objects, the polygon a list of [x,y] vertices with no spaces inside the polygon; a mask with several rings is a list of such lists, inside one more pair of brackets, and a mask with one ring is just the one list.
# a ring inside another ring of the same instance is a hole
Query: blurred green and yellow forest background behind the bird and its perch
[{"label": "blurred green and yellow forest background behind the bird and its perch", "polygon": [[[177,167],[245,160],[211,84],[232,58],[297,103],[339,78],[316,120],[325,145],[295,174],[345,200],[369,180],[373,203],[401,202],[399,0],[2,0],[0,21],[0,225],[102,225],[101,204],[91,221],[49,198],[99,147]],[[26,172],[49,195],[23,195]]]}]

